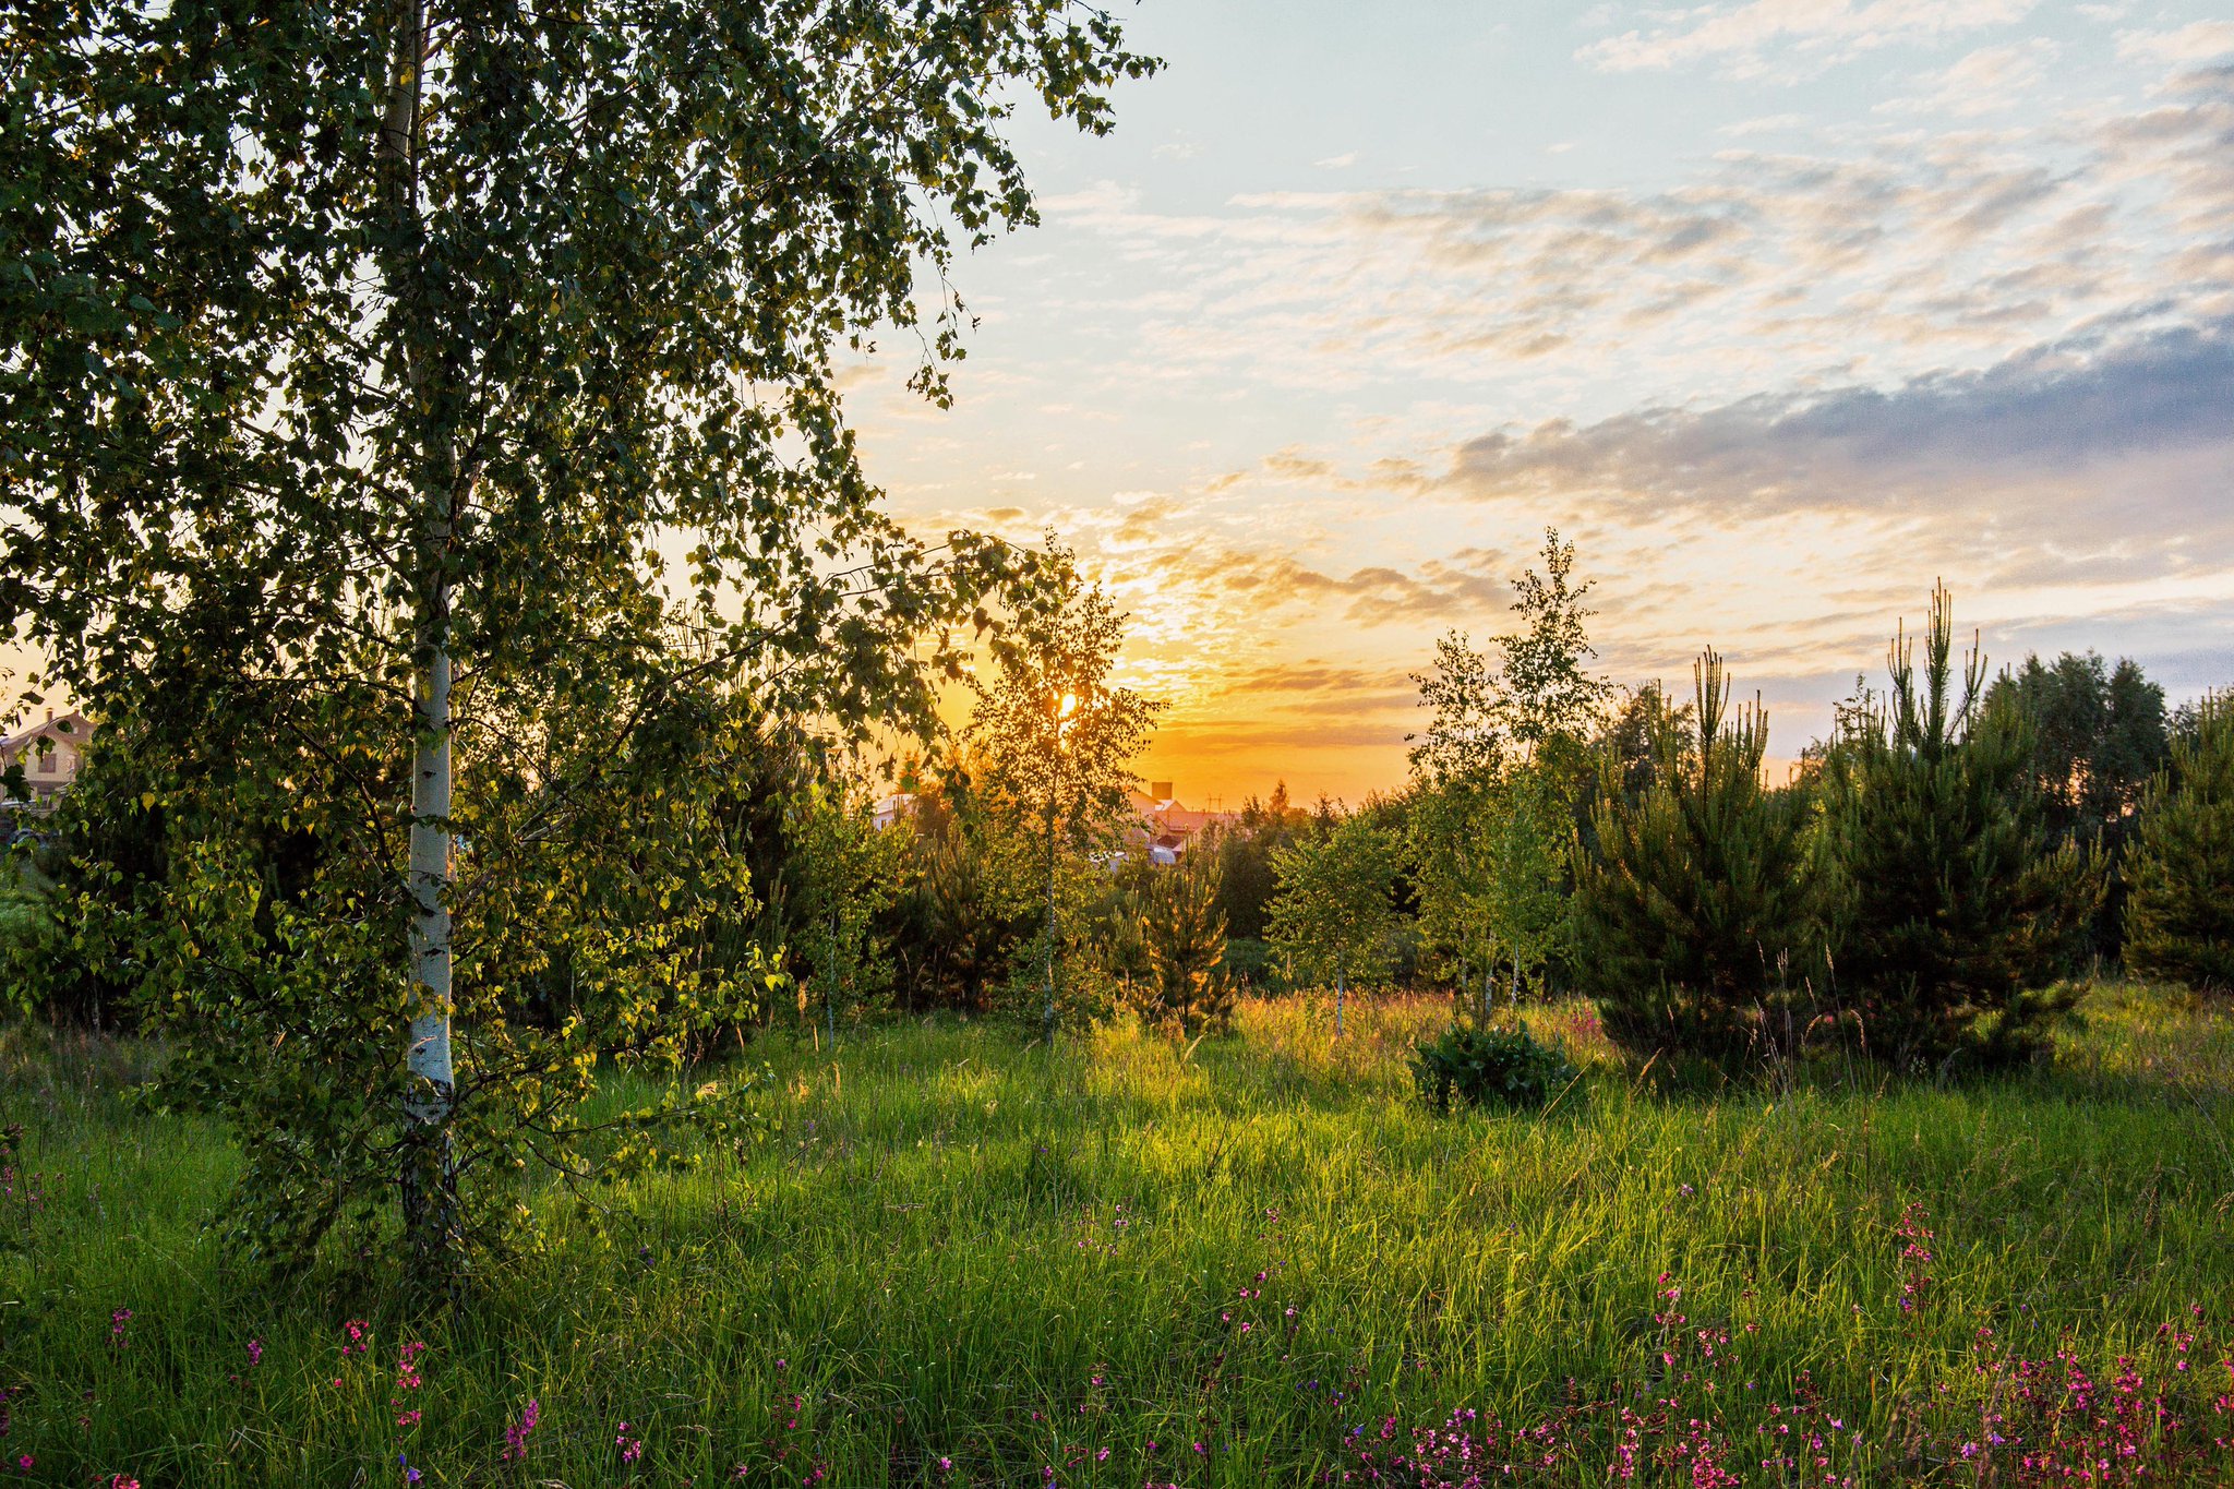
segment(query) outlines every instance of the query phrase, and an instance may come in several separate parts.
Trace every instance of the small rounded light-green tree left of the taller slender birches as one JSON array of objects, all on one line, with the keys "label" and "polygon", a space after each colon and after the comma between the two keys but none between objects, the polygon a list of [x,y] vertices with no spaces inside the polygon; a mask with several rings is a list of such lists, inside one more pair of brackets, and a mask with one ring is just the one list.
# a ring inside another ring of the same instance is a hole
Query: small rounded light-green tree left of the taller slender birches
[{"label": "small rounded light-green tree left of the taller slender birches", "polygon": [[1340,996],[1352,980],[1372,982],[1385,971],[1398,853],[1394,833],[1354,813],[1273,855],[1280,897],[1271,904],[1271,942],[1300,976],[1331,978]]}]

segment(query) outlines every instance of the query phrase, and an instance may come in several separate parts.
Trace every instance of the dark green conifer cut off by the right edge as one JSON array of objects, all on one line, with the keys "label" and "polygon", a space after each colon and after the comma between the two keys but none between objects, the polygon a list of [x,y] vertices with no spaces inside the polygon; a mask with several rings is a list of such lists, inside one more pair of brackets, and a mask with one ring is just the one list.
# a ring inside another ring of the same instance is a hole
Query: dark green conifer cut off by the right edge
[{"label": "dark green conifer cut off by the right edge", "polygon": [[2127,967],[2234,993],[2234,699],[2214,694],[2149,784],[2127,846]]}]

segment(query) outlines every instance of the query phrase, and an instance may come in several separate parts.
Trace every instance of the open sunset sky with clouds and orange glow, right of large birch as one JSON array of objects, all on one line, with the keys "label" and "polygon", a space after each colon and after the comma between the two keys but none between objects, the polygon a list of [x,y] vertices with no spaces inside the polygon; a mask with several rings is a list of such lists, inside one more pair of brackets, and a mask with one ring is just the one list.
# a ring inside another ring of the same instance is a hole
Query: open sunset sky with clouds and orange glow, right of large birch
[{"label": "open sunset sky with clouds and orange glow, right of large birch", "polygon": [[[2214,16],[2214,9],[2221,11]],[[1986,650],[2234,681],[2234,20],[2214,4],[1148,0],[1119,132],[1019,127],[925,529],[1052,525],[1229,806],[1403,777],[1546,525],[1602,665],[1713,643],[1776,757],[1935,578]]]}]

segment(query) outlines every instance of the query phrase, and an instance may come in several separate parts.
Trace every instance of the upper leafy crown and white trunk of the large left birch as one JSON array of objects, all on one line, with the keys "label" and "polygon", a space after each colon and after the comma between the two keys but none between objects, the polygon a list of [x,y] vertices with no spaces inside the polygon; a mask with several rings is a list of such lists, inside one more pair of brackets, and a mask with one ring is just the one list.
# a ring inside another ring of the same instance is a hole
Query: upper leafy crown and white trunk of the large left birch
[{"label": "upper leafy crown and white trunk of the large left birch", "polygon": [[[188,697],[206,750],[250,746],[241,790],[302,799],[364,871],[290,929],[364,958],[335,978],[357,1000],[302,989],[264,1034],[380,1051],[335,1141],[391,1152],[364,1134],[393,1125],[411,1241],[449,1255],[483,1161],[462,882],[503,897],[489,844],[592,815],[601,761],[708,676],[838,732],[929,717],[949,627],[1019,565],[880,511],[838,357],[898,339],[945,402],[954,254],[1034,217],[1012,109],[1099,134],[1153,63],[1068,0],[25,0],[0,25],[0,618],[107,726]],[[552,688],[601,741],[543,748]],[[268,953],[261,891],[203,857]],[[168,924],[188,958],[192,915]],[[244,1192],[324,1161],[255,1089],[290,1078],[210,1080]]]}]

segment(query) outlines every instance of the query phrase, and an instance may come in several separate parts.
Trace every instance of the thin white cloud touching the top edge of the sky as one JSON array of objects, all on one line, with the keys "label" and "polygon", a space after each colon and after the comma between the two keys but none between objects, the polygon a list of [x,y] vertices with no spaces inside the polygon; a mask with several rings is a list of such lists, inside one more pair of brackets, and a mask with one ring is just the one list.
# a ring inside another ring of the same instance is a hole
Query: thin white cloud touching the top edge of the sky
[{"label": "thin white cloud touching the top edge of the sky", "polygon": [[1602,71],[1718,63],[1734,78],[1801,80],[1892,45],[1939,45],[2022,20],[2033,0],[1749,0],[1676,11],[1671,25],[1624,31],[1575,56]]}]

